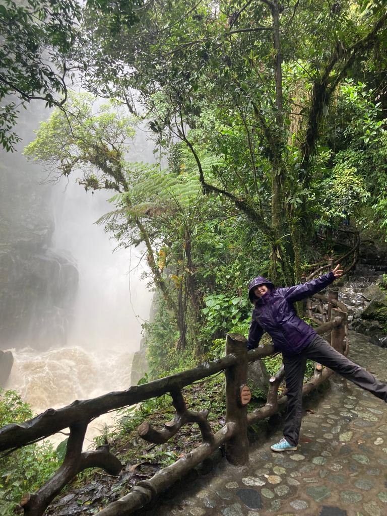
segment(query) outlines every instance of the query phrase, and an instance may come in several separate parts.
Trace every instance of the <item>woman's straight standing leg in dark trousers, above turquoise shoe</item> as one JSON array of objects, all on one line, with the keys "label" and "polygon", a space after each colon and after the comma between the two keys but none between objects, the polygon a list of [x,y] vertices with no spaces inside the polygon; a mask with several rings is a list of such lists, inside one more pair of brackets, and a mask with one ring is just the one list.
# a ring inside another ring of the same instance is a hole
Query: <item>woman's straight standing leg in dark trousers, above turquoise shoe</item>
[{"label": "woman's straight standing leg in dark trousers, above turquoise shoe", "polygon": [[307,365],[307,357],[300,353],[295,357],[283,357],[285,381],[287,388],[287,414],[284,426],[284,438],[297,446],[302,417],[302,383]]}]

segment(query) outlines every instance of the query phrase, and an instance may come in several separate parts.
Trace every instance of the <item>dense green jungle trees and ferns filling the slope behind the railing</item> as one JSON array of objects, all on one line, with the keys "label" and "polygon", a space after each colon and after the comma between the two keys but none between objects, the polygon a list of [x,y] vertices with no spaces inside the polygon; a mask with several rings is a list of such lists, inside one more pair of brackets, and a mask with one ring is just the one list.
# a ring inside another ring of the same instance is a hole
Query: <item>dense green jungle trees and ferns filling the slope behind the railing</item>
[{"label": "dense green jungle trees and ferns filling the slope behind the railing", "polygon": [[[332,237],[342,224],[385,241],[386,6],[0,5],[0,99],[16,99],[0,140],[12,151],[18,103],[42,99],[56,107],[26,156],[111,192],[99,222],[143,249],[155,292],[148,378],[220,356],[227,331],[248,331],[248,281],[302,281],[345,253]],[[139,130],[153,164],[127,159]]]}]

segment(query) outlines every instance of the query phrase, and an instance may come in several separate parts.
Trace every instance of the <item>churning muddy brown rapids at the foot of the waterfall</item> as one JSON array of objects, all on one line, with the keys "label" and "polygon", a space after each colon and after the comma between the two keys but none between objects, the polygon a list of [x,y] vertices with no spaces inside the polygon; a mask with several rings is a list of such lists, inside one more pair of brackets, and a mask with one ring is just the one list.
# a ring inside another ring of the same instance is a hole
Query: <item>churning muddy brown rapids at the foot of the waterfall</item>
[{"label": "churning muddy brown rapids at the foot of the waterfall", "polygon": [[[14,363],[5,388],[17,391],[36,414],[48,408],[65,407],[75,399],[89,399],[130,387],[131,352],[108,350],[99,355],[79,347],[11,351]],[[93,437],[103,432],[105,425],[114,426],[114,415],[110,412],[90,423],[84,449],[92,444]],[[55,434],[50,441],[58,444],[65,437]]]}]

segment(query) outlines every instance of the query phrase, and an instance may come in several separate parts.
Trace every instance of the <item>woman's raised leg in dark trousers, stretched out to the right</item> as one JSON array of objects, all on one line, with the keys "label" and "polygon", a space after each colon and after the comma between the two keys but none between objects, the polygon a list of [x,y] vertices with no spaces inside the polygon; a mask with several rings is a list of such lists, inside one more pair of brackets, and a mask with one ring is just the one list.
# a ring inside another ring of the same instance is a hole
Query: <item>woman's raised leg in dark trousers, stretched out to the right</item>
[{"label": "woman's raised leg in dark trousers, stretched out to the right", "polygon": [[347,378],[378,398],[387,401],[387,383],[377,380],[366,369],[351,362],[343,354],[333,349],[320,335],[316,335],[313,341],[302,350],[302,354],[305,354],[315,362],[329,367],[335,373]]}]

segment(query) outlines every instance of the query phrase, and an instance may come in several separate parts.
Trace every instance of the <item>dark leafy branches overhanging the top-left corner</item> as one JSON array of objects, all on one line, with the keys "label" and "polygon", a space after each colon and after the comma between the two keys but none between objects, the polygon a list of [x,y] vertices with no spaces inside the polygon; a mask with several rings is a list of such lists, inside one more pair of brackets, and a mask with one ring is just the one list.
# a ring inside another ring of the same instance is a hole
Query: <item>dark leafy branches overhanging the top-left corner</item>
[{"label": "dark leafy branches overhanging the top-left corner", "polygon": [[62,104],[58,96],[66,97],[62,74],[80,16],[76,0],[3,0],[0,5],[0,68],[7,71],[0,76],[0,143],[7,151],[20,139],[13,127],[21,106],[41,99],[52,107]]}]

